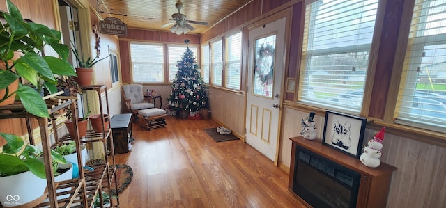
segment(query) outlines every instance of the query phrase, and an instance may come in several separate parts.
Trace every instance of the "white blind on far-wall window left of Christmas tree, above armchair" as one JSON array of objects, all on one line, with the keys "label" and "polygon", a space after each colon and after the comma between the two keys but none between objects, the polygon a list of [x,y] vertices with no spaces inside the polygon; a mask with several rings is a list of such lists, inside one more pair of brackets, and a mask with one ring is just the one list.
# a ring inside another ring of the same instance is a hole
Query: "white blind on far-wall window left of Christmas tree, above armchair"
[{"label": "white blind on far-wall window left of Christmas tree, above armchair", "polygon": [[130,43],[133,82],[164,82],[164,52],[162,45]]}]

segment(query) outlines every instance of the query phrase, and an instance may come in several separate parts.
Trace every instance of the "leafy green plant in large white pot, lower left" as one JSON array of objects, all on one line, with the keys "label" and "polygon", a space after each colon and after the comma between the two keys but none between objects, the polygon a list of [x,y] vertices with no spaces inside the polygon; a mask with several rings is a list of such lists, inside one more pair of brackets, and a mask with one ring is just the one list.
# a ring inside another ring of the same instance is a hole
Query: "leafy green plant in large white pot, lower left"
[{"label": "leafy green plant in large white pot, lower left", "polygon": [[[6,140],[0,153],[0,202],[3,207],[8,204],[7,195],[18,195],[22,204],[40,198],[45,191],[45,166],[38,159],[43,153],[36,146],[25,145],[22,138],[14,134],[0,133]],[[66,163],[61,154],[51,151],[53,167]],[[5,203],[6,202],[6,203]]]}]

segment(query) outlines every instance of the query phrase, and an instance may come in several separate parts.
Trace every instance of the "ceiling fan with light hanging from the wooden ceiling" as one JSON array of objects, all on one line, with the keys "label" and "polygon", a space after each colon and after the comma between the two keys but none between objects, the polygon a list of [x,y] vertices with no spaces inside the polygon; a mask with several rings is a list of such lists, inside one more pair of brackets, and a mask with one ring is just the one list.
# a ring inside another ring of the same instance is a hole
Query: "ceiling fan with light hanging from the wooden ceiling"
[{"label": "ceiling fan with light hanging from the wooden ceiling", "polygon": [[189,31],[193,31],[195,28],[190,25],[189,23],[192,24],[201,24],[201,25],[208,25],[208,22],[199,22],[199,21],[193,21],[193,20],[187,20],[186,15],[181,14],[180,10],[181,8],[183,8],[183,3],[181,3],[180,0],[178,0],[175,3],[175,7],[178,9],[178,13],[174,13],[172,15],[172,19],[174,22],[169,22],[167,24],[162,25],[161,27],[167,27],[167,26],[171,26],[170,31],[172,33],[176,33],[177,35],[180,35],[181,33],[187,33]]}]

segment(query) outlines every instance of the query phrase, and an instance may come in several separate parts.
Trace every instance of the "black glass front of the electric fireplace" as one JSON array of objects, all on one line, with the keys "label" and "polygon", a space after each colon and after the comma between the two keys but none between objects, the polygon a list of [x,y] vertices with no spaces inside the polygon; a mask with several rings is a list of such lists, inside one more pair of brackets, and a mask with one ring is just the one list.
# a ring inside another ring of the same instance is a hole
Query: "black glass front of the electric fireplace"
[{"label": "black glass front of the electric fireplace", "polygon": [[294,193],[313,207],[356,207],[359,173],[299,146],[294,173]]}]

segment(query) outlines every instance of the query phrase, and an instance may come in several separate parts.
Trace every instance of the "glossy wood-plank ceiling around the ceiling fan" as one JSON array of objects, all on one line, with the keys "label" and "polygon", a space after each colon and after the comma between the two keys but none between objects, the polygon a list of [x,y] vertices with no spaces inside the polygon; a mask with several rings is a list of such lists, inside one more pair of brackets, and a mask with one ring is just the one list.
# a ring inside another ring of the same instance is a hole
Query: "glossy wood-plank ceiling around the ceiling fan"
[{"label": "glossy wood-plank ceiling around the ceiling fan", "polygon": [[[110,15],[100,13],[102,18],[117,17],[123,20],[129,28],[169,31],[169,26],[161,27],[172,22],[172,14],[178,13],[175,3],[178,0],[97,0],[97,10],[118,13]],[[180,13],[187,16],[187,20],[208,22],[208,26],[191,24],[195,30],[190,33],[203,33],[220,19],[230,15],[238,8],[245,6],[252,0],[181,0],[183,8]]]}]

